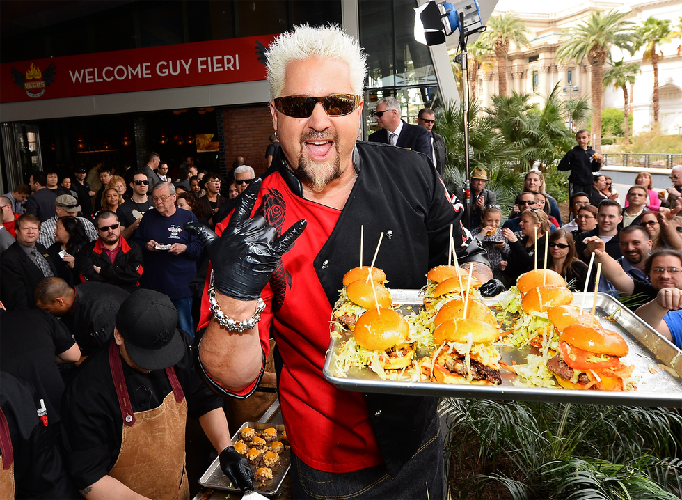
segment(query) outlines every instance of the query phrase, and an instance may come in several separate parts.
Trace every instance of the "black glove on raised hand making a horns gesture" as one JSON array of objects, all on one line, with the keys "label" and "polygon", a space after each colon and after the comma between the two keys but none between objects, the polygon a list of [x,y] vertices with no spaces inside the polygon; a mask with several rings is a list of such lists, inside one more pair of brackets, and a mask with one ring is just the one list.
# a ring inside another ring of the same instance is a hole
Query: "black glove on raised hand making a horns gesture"
[{"label": "black glove on raised hand making a horns gesture", "polygon": [[237,300],[256,300],[270,280],[280,258],[306,227],[301,219],[277,237],[261,215],[250,217],[262,180],[256,179],[239,196],[235,212],[220,237],[206,226],[187,222],[185,230],[203,241],[216,290]]}]

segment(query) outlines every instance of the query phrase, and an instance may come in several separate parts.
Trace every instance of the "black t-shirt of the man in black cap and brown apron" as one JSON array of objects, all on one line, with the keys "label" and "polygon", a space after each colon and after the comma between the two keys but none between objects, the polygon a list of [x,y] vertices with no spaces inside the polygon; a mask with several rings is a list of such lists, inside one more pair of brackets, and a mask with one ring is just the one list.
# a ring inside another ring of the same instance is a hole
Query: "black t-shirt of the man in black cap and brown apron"
[{"label": "black t-shirt of the man in black cap and brown apron", "polygon": [[[187,398],[189,417],[198,419],[212,409],[222,407],[223,402],[194,371],[192,339],[189,334],[180,333],[187,348],[184,357],[175,365],[175,375]],[[65,462],[79,490],[106,476],[120,453],[123,417],[109,367],[110,344],[111,341],[81,364],[64,396]],[[173,391],[165,370],[141,373],[130,368],[123,359],[121,363],[133,412],[159,407]]]}]

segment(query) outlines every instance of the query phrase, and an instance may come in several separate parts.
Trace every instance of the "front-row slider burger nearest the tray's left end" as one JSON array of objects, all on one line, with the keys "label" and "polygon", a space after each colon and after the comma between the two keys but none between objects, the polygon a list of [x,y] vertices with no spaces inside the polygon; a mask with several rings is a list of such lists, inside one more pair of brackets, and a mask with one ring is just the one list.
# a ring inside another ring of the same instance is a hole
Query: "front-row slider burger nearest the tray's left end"
[{"label": "front-row slider burger nearest the tray's left end", "polygon": [[374,371],[376,362],[383,370],[399,370],[412,364],[410,325],[402,314],[392,309],[369,309],[358,319],[354,333],[360,347],[374,352],[370,365]]}]

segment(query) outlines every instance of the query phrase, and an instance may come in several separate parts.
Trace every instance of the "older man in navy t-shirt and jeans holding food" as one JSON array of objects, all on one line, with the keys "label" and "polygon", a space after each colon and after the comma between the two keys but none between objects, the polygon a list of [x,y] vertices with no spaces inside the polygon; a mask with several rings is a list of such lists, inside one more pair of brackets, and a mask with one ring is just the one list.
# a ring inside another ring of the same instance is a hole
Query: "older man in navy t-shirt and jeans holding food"
[{"label": "older man in navy t-shirt and jeans holding food", "polygon": [[204,247],[196,235],[184,230],[185,223],[197,221],[196,216],[189,210],[177,210],[175,199],[175,187],[170,182],[154,186],[154,210],[142,218],[135,241],[142,247],[145,262],[143,288],[166,293],[177,309],[178,327],[194,336],[189,281],[196,274]]}]

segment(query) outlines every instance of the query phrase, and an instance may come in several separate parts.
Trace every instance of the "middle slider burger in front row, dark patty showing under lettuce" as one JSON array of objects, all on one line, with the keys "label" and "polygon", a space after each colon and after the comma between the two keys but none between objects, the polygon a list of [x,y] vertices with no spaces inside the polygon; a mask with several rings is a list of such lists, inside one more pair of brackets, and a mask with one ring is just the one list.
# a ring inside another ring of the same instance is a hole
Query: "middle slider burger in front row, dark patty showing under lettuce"
[{"label": "middle slider burger in front row, dark patty showing under lettuce", "polygon": [[436,382],[502,384],[500,353],[491,345],[498,336],[498,328],[479,320],[448,320],[438,325],[434,341],[440,347],[431,361]]}]

